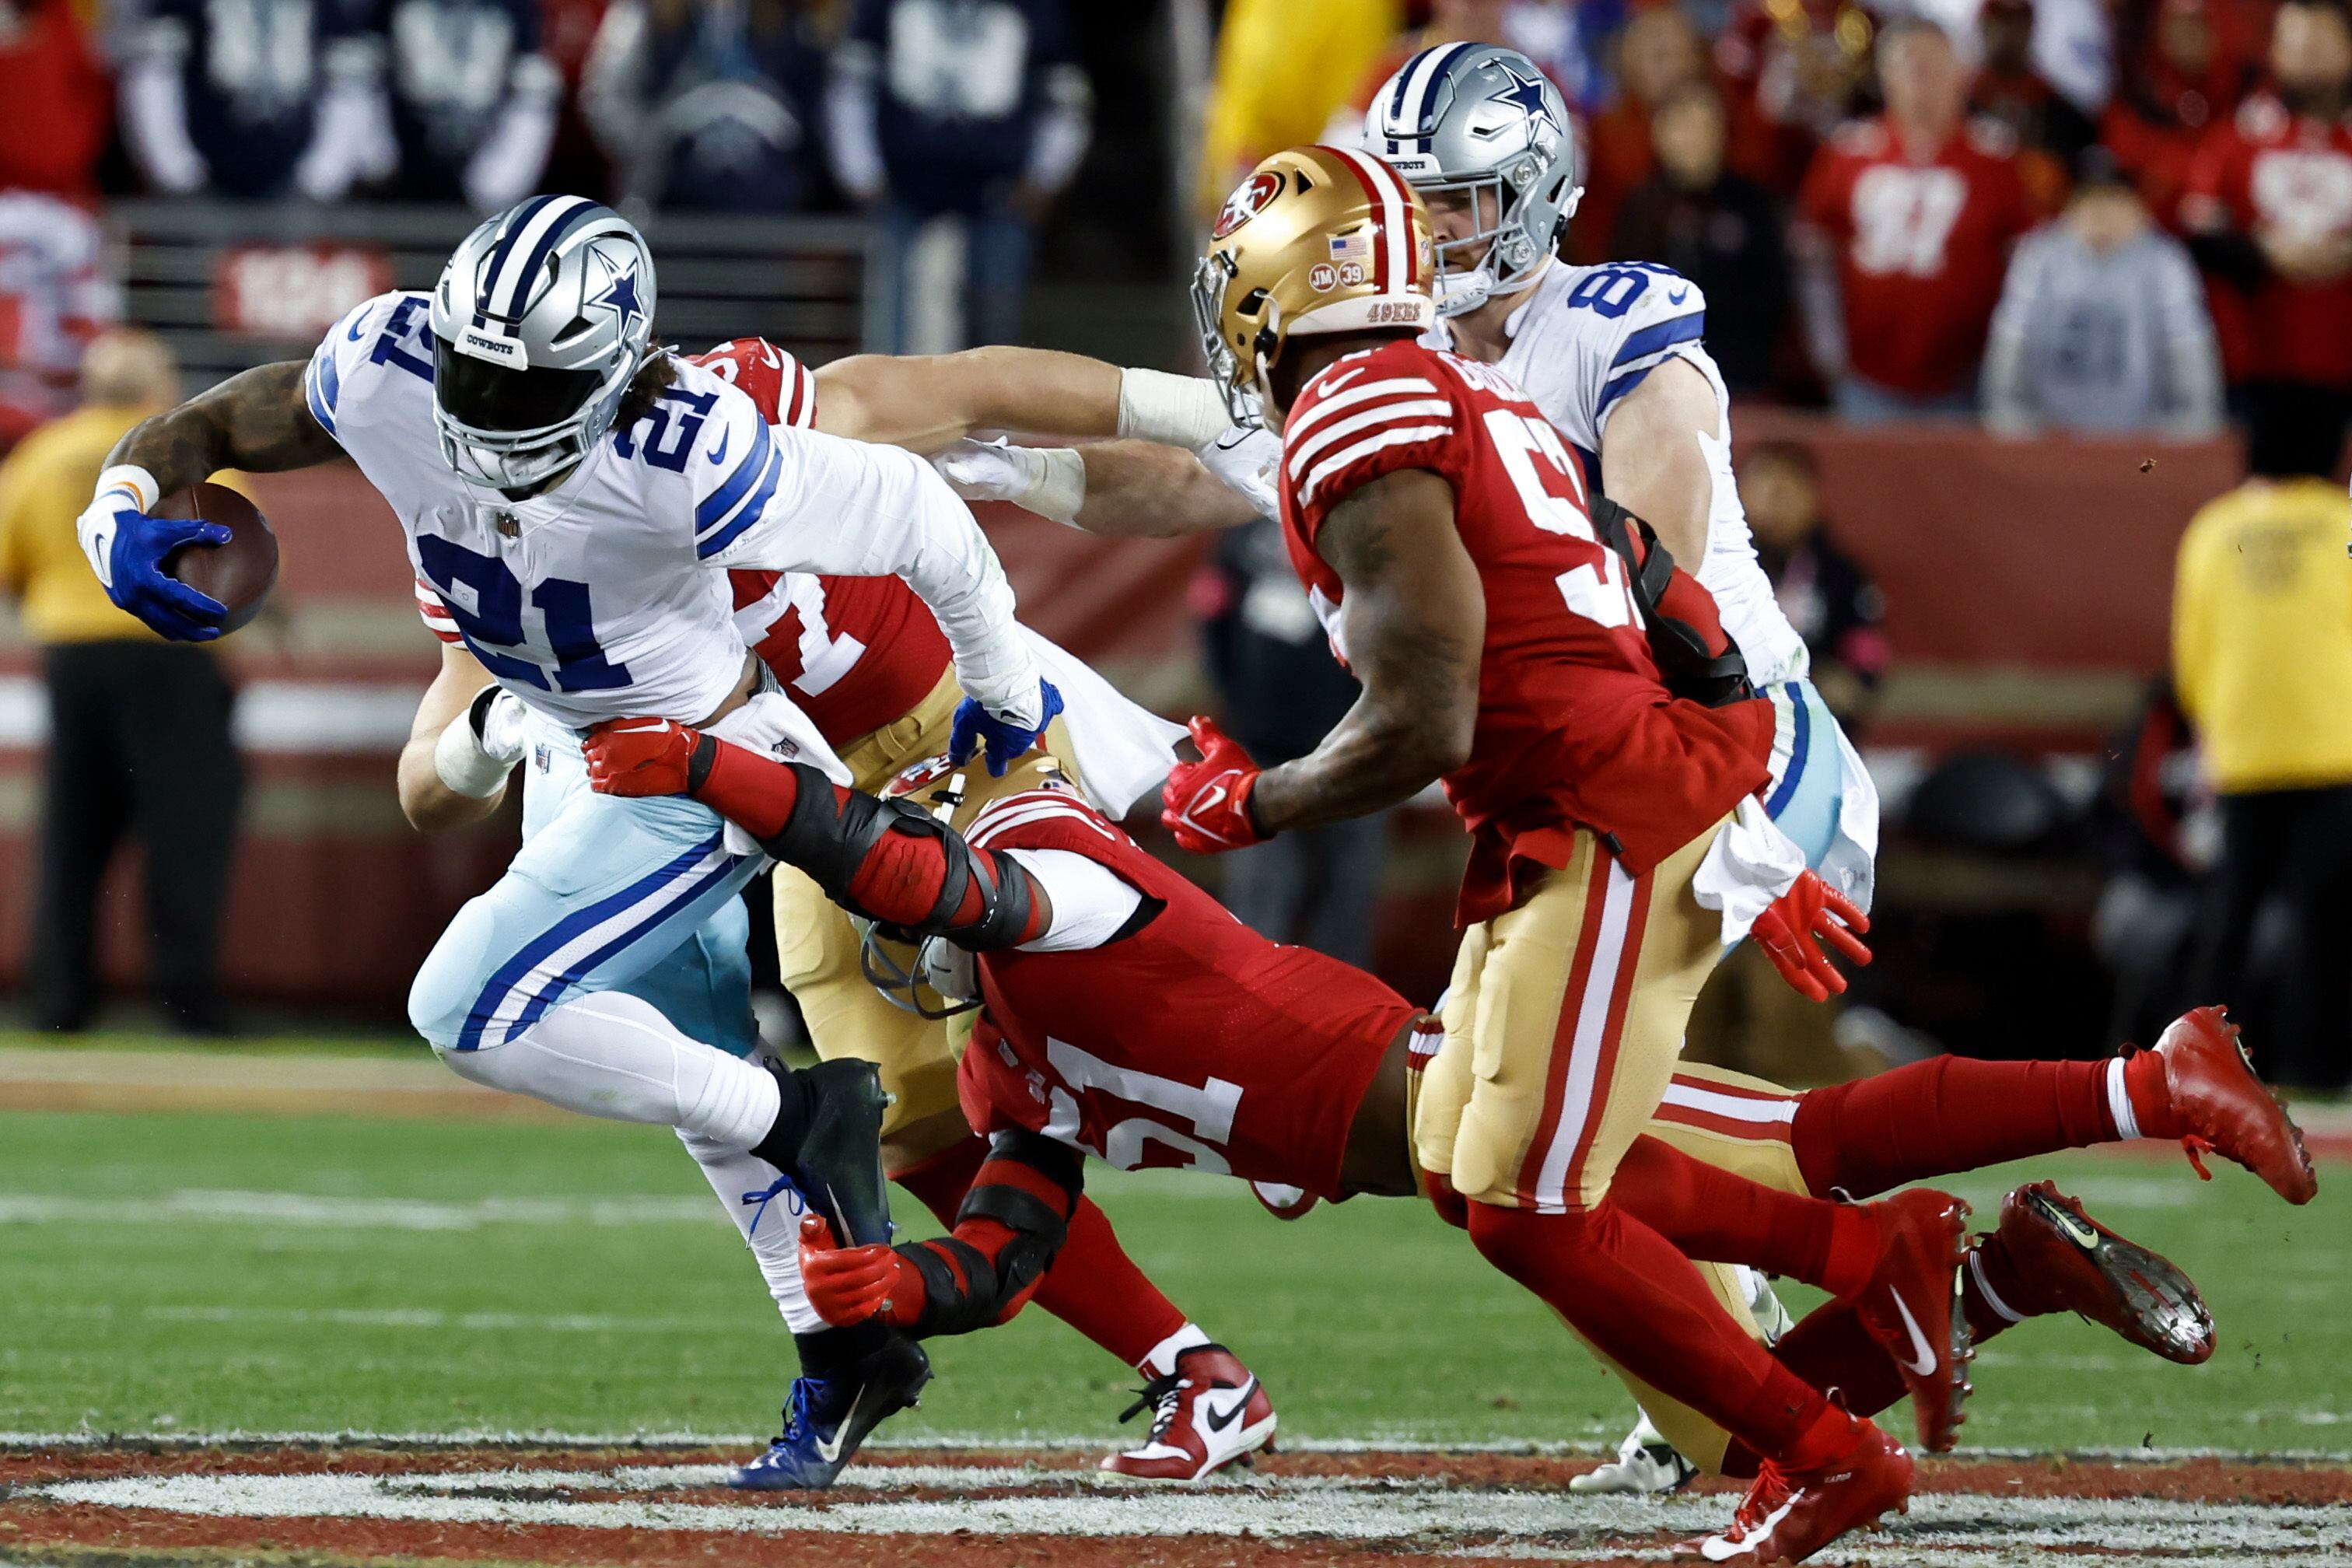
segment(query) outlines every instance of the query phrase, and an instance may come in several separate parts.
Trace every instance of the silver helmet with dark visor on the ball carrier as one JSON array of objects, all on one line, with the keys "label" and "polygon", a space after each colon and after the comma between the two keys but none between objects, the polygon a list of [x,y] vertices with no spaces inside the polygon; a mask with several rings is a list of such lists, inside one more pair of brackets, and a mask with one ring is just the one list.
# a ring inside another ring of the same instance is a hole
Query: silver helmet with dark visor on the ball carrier
[{"label": "silver helmet with dark visor on the ball carrier", "polygon": [[569,473],[612,428],[654,336],[644,235],[581,195],[534,195],[466,235],[433,289],[433,423],[459,477]]}]

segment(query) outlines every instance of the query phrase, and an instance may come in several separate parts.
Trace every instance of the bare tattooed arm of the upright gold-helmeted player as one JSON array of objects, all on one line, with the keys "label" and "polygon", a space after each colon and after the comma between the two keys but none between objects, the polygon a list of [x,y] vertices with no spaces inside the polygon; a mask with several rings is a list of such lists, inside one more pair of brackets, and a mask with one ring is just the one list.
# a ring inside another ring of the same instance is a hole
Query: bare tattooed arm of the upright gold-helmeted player
[{"label": "bare tattooed arm of the upright gold-helmeted player", "polygon": [[1395,806],[1461,766],[1477,726],[1486,595],[1454,531],[1454,487],[1418,468],[1381,475],[1315,545],[1345,585],[1341,632],[1364,693],[1312,755],[1258,776],[1263,832]]}]

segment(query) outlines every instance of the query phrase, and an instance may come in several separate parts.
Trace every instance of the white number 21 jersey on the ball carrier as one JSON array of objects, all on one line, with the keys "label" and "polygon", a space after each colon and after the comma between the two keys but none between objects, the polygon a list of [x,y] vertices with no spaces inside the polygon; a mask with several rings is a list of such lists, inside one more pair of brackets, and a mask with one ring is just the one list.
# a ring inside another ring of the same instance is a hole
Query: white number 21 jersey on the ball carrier
[{"label": "white number 21 jersey on the ball carrier", "polygon": [[560,724],[708,717],[748,646],[729,567],[903,576],[967,691],[1035,708],[1037,665],[971,512],[922,458],[769,428],[699,364],[553,491],[506,501],[442,461],[423,294],[346,315],[310,357],[310,414],[383,494],[421,585],[501,686]]}]

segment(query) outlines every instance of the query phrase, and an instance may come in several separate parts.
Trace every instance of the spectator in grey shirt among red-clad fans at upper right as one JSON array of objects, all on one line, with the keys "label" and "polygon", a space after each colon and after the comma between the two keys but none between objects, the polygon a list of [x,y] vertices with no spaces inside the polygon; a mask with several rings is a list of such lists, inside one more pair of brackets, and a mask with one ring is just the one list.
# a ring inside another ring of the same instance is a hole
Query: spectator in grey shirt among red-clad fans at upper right
[{"label": "spectator in grey shirt among red-clad fans at upper right", "polygon": [[2091,148],[2065,214],[2018,244],[1992,313],[1985,423],[2037,430],[2220,428],[2220,353],[2187,247]]}]

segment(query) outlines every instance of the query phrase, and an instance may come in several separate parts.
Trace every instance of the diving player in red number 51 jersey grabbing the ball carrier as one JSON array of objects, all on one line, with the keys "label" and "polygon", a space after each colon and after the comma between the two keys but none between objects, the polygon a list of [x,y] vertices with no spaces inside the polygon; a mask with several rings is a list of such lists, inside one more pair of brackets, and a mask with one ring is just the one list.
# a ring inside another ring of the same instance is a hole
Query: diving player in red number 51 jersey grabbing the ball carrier
[{"label": "diving player in red number 51 jersey grabbing the ball carrier", "polygon": [[[931,1335],[1018,1312],[1051,1281],[1080,1201],[1073,1154],[1279,1180],[1324,1199],[1414,1192],[1409,1086],[1437,1051],[1435,1020],[1362,971],[1251,933],[1094,811],[1056,759],[1023,757],[1018,788],[978,802],[943,759],[894,780],[894,799],[873,799],[666,722],[609,724],[588,757],[593,788],[691,795],[833,898],[922,933],[927,969],[962,971],[943,992],[985,1004],[960,1095],[990,1159],[946,1239],[835,1248],[821,1220],[804,1222],[809,1293],[828,1321],[882,1314]],[[1136,1009],[1136,994],[1155,1006]],[[1811,1093],[1686,1067],[1628,1152],[1625,1168],[1644,1175],[1628,1204],[1696,1255],[1736,1244],[1726,1208],[1759,1206],[1771,1265],[1842,1293],[1776,1354],[1875,1413],[1903,1394],[1858,1321],[1858,1293],[1879,1269],[1867,1248],[1839,1260],[1832,1232],[1877,1229],[1884,1253],[1898,1227],[1872,1227],[1882,1206],[1820,1199],[2131,1135],[2209,1143],[2291,1201],[2310,1197],[2293,1126],[2244,1067],[2234,1030],[2204,1009],[2154,1051],[2114,1063],[1940,1058]],[[1449,1218],[1463,1222],[1458,1206]],[[2171,1361],[2213,1349],[2194,1286],[2046,1182],[2013,1192],[1997,1232],[1978,1239],[1964,1302],[1985,1338],[2023,1316],[2082,1312]],[[1145,1453],[1167,1474],[1204,1472],[1270,1425],[1263,1389],[1221,1347],[1185,1352],[1145,1394]],[[1757,1479],[1757,1519],[1788,1500],[1780,1476],[1726,1432],[1679,1406],[1665,1418],[1682,1418],[1677,1441],[1703,1467]]]}]

